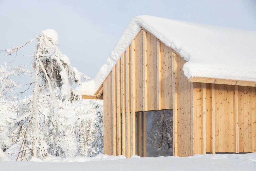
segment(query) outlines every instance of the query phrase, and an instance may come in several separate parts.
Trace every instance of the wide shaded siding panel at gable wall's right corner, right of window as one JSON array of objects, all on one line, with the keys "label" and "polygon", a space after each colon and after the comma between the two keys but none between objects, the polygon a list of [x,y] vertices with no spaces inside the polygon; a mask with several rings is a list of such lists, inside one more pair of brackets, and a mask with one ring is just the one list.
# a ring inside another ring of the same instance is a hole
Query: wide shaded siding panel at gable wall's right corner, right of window
[{"label": "wide shaded siding panel at gable wall's right corner, right of window", "polygon": [[178,58],[178,156],[182,157],[193,155],[193,86],[183,73],[185,62],[184,59]]}]

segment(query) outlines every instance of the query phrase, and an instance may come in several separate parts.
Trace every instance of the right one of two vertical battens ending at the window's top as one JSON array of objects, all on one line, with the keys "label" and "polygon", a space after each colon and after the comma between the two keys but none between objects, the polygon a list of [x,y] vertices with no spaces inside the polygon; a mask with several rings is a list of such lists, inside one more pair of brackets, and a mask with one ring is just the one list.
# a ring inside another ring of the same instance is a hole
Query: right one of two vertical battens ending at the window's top
[{"label": "right one of two vertical battens ending at the window's top", "polygon": [[162,55],[161,43],[156,42],[156,61],[157,61],[157,110],[162,109]]}]

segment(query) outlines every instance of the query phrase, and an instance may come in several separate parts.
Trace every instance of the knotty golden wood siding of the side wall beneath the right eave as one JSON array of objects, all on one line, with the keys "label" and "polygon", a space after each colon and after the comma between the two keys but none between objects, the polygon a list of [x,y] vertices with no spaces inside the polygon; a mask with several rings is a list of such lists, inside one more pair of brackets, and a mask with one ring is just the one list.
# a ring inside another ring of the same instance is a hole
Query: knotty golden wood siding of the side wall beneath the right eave
[{"label": "knotty golden wood siding of the side wall beneath the right eave", "polygon": [[[205,153],[201,91],[201,83],[194,82],[195,154]],[[206,83],[206,152],[255,152],[255,108],[255,87]]]}]

